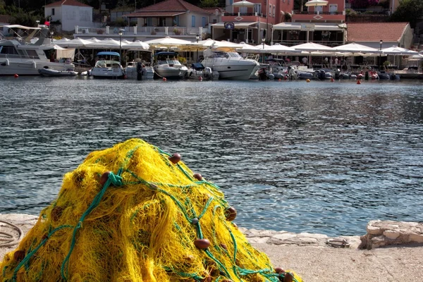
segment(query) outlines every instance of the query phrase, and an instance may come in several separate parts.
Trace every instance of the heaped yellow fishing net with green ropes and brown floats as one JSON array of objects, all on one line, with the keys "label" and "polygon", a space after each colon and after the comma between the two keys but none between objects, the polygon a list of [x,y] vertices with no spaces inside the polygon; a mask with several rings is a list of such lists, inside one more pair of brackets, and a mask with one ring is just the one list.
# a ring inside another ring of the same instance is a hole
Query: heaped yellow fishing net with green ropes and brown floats
[{"label": "heaped yellow fishing net with green ropes and brown floats", "polygon": [[66,173],[0,281],[300,281],[255,250],[218,186],[139,139]]}]

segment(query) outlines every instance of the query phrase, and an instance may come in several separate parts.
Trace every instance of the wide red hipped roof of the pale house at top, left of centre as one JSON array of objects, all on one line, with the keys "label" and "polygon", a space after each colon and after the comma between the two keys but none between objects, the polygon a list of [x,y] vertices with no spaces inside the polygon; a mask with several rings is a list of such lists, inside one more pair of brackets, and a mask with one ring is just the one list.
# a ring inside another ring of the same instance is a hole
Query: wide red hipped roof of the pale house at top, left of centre
[{"label": "wide red hipped roof of the pale house at top, left of centre", "polygon": [[186,13],[187,11],[207,13],[207,14],[210,13],[209,11],[206,11],[200,7],[192,5],[183,0],[166,0],[158,4],[141,8],[140,10],[137,10],[134,13],[130,13],[125,16],[127,17],[169,16],[168,13],[173,13],[175,15],[178,15],[181,13]]}]

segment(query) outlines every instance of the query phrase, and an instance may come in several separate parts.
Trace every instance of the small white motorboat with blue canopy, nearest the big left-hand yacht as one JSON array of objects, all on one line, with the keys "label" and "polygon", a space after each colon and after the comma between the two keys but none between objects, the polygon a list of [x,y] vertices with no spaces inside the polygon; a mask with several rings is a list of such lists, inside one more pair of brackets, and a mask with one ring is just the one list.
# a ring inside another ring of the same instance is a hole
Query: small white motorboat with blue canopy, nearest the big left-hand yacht
[{"label": "small white motorboat with blue canopy, nearest the big left-hand yacht", "polygon": [[99,52],[96,58],[95,66],[91,70],[93,78],[125,78],[125,71],[121,65],[121,55],[118,52]]}]

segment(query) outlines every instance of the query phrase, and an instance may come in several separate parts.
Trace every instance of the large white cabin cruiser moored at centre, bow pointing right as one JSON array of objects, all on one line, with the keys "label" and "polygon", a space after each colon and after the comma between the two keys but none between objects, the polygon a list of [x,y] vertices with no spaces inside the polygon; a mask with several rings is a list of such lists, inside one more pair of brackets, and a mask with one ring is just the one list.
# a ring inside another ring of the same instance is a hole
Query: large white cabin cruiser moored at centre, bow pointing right
[{"label": "large white cabin cruiser moored at centre, bow pointing right", "polygon": [[260,64],[256,60],[244,59],[235,51],[219,51],[209,48],[204,50],[204,67],[219,72],[219,78],[228,80],[249,80],[253,71],[257,71]]}]

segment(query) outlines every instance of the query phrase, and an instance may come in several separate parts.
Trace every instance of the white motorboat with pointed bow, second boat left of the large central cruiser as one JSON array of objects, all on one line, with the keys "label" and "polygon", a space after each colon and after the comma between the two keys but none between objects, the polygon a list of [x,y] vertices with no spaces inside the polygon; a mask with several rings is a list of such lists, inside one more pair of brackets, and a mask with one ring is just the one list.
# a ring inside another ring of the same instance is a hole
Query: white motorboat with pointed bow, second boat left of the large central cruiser
[{"label": "white motorboat with pointed bow, second boat left of the large central cruiser", "polygon": [[178,61],[178,53],[171,51],[159,52],[154,55],[154,78],[181,79],[185,78],[188,68]]}]

